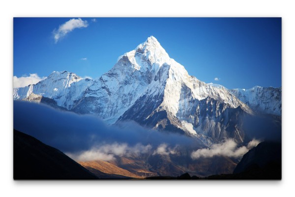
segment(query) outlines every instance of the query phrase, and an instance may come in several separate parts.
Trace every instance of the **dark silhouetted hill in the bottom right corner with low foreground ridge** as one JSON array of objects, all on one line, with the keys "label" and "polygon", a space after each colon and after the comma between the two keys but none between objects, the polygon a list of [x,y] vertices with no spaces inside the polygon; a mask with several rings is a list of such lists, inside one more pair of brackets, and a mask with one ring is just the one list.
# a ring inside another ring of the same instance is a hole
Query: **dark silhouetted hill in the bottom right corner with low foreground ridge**
[{"label": "dark silhouetted hill in the bottom right corner with low foreground ridge", "polygon": [[188,173],[177,177],[153,176],[147,179],[249,179],[249,180],[281,180],[282,179],[282,144],[264,141],[249,150],[237,164],[232,174],[216,174],[200,178]]}]

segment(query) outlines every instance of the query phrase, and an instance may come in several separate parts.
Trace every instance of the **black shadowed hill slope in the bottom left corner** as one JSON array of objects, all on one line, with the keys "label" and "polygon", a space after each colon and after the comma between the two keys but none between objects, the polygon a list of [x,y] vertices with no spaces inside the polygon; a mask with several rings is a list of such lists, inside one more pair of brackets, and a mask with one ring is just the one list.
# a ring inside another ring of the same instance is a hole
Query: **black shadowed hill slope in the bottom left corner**
[{"label": "black shadowed hill slope in the bottom left corner", "polygon": [[13,130],[13,178],[97,179],[56,148]]}]

